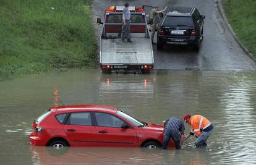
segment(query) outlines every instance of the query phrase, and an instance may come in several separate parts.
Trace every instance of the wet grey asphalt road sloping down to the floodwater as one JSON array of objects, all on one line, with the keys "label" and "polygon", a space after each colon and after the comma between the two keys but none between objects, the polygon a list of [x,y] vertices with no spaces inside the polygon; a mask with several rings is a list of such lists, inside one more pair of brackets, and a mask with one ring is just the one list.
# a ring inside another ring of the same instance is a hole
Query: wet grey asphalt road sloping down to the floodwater
[{"label": "wet grey asphalt road sloping down to the floodwater", "polygon": [[[256,64],[239,47],[221,18],[213,0],[94,0],[93,14],[103,18],[104,11],[111,5],[130,6],[147,4],[164,6],[195,6],[205,15],[203,41],[199,52],[187,46],[168,45],[158,51],[153,45],[155,68],[174,70],[255,70]],[[96,20],[95,20],[96,22]],[[156,42],[156,35],[155,35]]]}]

